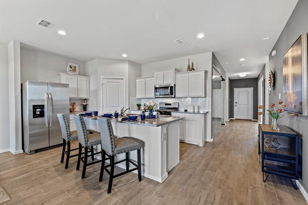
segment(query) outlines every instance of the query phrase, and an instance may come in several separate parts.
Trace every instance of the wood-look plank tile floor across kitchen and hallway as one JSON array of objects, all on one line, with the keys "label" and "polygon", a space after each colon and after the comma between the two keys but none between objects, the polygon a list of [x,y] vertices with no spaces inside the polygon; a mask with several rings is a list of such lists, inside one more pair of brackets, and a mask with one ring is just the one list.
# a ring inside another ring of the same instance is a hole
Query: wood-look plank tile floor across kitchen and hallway
[{"label": "wood-look plank tile floor across kitchen and hallway", "polygon": [[89,166],[81,179],[76,158],[70,159],[66,170],[60,163],[61,148],[32,155],[1,153],[0,186],[12,198],[4,205],[306,205],[288,179],[270,175],[262,181],[257,126],[257,122],[233,120],[203,147],[180,143],[180,163],[163,183],[145,177],[139,182],[137,174],[129,173],[114,179],[111,194],[106,193],[106,172],[98,182],[100,164]]}]

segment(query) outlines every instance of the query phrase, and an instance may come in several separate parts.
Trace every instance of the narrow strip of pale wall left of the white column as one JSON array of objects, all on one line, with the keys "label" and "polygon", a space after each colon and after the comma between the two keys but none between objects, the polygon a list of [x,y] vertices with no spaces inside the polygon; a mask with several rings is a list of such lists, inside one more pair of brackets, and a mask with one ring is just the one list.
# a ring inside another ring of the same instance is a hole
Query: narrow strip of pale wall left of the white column
[{"label": "narrow strip of pale wall left of the white column", "polygon": [[[10,148],[9,117],[9,70],[7,44],[0,43],[0,153]],[[5,117],[6,116],[6,117]]]}]

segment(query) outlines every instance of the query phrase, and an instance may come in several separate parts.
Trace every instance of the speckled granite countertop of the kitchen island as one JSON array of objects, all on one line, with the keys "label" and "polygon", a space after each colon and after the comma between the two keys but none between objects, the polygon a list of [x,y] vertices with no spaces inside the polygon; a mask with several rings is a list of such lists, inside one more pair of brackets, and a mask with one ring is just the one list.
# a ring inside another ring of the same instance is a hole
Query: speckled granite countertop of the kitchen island
[{"label": "speckled granite countertop of the kitchen island", "polygon": [[[100,116],[102,114],[98,114]],[[83,116],[85,119],[90,120],[97,120],[98,116]],[[121,121],[122,117],[119,118],[110,118],[111,122],[115,123],[124,123],[124,124],[131,124],[131,125],[143,125],[143,126],[149,126],[149,127],[159,127],[162,125],[167,125],[169,123],[179,121],[184,119],[184,117],[162,117],[154,118],[154,119],[145,119],[145,121],[141,122],[135,122],[135,121]],[[140,120],[140,117],[138,116],[137,120]]]}]

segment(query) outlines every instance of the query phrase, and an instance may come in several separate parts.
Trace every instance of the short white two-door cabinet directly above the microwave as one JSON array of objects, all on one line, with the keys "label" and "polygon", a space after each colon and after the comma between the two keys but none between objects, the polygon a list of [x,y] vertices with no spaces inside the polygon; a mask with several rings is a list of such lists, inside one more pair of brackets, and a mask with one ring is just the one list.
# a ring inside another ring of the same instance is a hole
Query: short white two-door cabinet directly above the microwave
[{"label": "short white two-door cabinet directly above the microwave", "polygon": [[176,68],[153,71],[155,85],[175,84],[174,74],[179,72]]}]

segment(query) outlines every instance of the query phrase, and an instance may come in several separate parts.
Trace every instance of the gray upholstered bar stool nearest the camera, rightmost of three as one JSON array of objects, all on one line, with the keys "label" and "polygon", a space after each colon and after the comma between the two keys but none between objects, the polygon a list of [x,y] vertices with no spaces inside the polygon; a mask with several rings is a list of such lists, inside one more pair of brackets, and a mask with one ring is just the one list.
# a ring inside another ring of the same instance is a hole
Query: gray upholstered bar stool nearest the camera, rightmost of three
[{"label": "gray upholstered bar stool nearest the camera, rightmost of three", "polygon": [[[112,181],[114,178],[119,177],[123,174],[127,174],[131,171],[138,170],[138,179],[139,181],[141,181],[141,143],[131,137],[114,138],[110,119],[98,117],[97,120],[102,138],[102,166],[101,172],[99,174],[99,181],[102,181],[103,173],[105,170],[107,174],[109,174],[107,193],[109,194],[111,192]],[[129,152],[133,150],[137,150],[138,165],[129,159]],[[105,166],[106,153],[110,154],[110,164],[107,166]],[[114,155],[122,153],[126,154],[126,158],[118,162],[114,162]],[[121,162],[126,162],[126,171],[114,175],[114,165]],[[133,164],[135,168],[129,170],[129,163]],[[110,167],[110,171],[107,169],[107,167]]]}]

